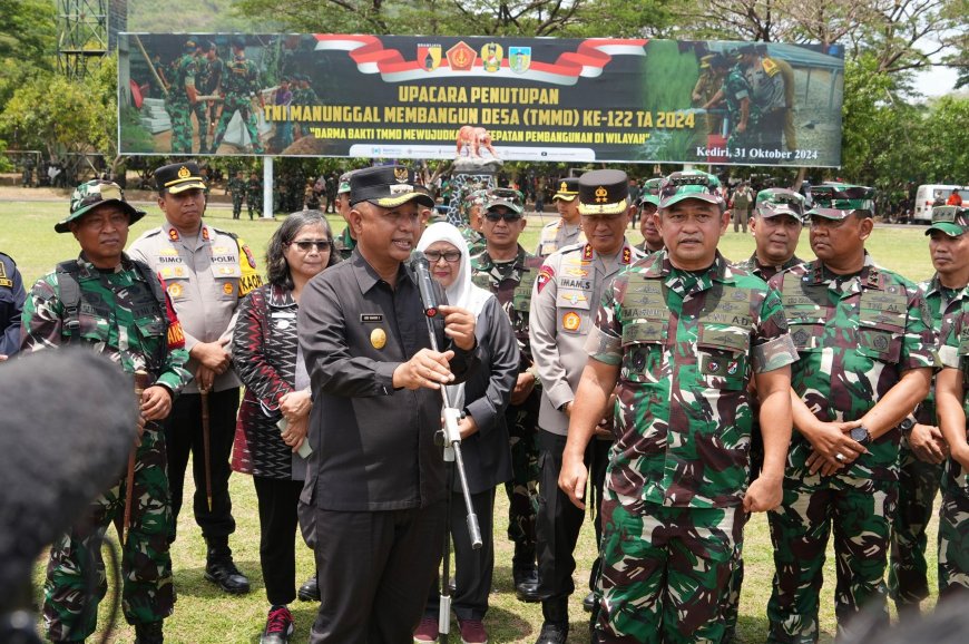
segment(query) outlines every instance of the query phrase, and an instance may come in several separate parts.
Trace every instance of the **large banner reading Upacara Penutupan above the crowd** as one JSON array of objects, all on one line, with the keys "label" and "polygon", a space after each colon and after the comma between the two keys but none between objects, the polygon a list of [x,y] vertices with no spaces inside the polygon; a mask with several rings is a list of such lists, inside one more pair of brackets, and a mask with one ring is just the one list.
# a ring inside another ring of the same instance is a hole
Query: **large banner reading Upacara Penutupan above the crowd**
[{"label": "large banner reading Upacara Penutupan above the crowd", "polygon": [[119,49],[127,155],[841,164],[840,46],[126,33]]}]

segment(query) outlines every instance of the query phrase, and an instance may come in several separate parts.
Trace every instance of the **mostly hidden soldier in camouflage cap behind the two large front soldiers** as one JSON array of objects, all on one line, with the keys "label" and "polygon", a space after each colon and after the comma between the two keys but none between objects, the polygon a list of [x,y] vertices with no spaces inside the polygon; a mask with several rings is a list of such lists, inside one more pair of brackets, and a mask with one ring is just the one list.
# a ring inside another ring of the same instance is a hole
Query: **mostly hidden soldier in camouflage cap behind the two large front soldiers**
[{"label": "mostly hidden soldier in camouflage cap behind the two large front soldiers", "polygon": [[[767,188],[757,193],[754,217],[751,219],[751,234],[755,242],[754,253],[735,266],[767,282],[781,271],[803,264],[803,260],[794,254],[801,238],[803,216],[804,197],[799,193],[784,188]],[[764,459],[756,399],[752,401],[752,410],[754,413],[751,425],[751,474],[754,475],[761,470]],[[737,548],[730,589],[724,597],[723,619],[726,633],[724,642],[733,640],[736,630],[743,580],[743,550]]]}]

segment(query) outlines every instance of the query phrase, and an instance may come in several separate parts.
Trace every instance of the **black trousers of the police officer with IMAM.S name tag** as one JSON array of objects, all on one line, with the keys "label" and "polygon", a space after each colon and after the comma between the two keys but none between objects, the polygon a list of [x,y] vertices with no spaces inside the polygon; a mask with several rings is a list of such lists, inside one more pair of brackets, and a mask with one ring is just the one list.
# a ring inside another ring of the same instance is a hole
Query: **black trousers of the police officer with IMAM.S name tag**
[{"label": "black trousers of the police officer with IMAM.S name tag", "polygon": [[[542,601],[567,599],[576,587],[572,583],[572,573],[576,569],[576,559],[572,553],[579,540],[579,530],[583,527],[586,513],[580,510],[569,500],[568,496],[558,487],[558,475],[561,472],[561,458],[565,451],[566,437],[540,429],[538,432],[539,466],[541,474],[538,484],[538,594]],[[586,496],[587,505],[593,504],[595,511],[596,544],[603,536],[599,508],[603,500],[603,484],[606,480],[606,466],[608,465],[608,440],[593,439],[586,448],[586,467],[589,468],[589,481],[591,482],[591,497]],[[589,587],[595,579],[599,559],[593,564],[589,573]]]}]

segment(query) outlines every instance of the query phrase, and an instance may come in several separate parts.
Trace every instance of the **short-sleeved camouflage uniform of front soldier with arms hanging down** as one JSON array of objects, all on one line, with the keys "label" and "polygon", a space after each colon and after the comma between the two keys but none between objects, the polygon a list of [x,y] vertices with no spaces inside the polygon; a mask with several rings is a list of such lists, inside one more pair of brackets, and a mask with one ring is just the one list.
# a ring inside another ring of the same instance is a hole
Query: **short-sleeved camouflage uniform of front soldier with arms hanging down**
[{"label": "short-sleeved camouflage uniform of front soldier with arms hanging down", "polygon": [[748,480],[748,383],[796,360],[776,292],[717,253],[665,251],[606,290],[589,355],[620,368],[603,499],[596,634],[720,642]]}]

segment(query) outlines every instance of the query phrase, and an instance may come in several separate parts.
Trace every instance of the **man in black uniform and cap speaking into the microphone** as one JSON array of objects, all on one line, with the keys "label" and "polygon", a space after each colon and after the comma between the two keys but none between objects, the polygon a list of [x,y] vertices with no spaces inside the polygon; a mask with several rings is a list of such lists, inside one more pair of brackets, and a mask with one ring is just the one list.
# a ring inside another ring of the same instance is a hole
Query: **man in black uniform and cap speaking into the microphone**
[{"label": "man in black uniform and cap speaking into the microphone", "polygon": [[[439,306],[430,349],[418,286],[404,269],[433,201],[401,166],[351,178],[348,261],[306,285],[300,349],[313,388],[302,500],[315,507],[323,604],[312,644],[410,642],[444,531],[441,384],[478,361],[474,318]],[[443,293],[438,289],[439,296]]]}]

